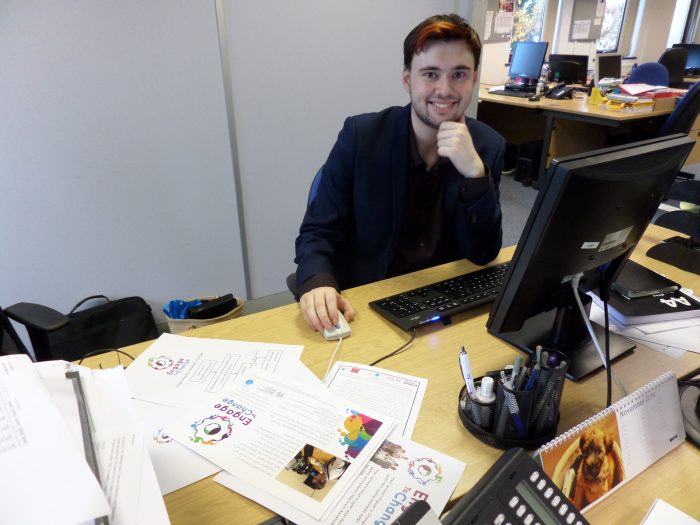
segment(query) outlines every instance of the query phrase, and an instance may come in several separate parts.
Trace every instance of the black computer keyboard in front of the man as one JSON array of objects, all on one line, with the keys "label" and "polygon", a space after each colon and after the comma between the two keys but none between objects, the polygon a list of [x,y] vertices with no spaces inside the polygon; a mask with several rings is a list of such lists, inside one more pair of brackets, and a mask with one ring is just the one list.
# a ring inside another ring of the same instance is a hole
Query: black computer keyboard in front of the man
[{"label": "black computer keyboard in front of the man", "polygon": [[403,330],[410,330],[491,303],[501,291],[509,263],[465,273],[369,303]]}]

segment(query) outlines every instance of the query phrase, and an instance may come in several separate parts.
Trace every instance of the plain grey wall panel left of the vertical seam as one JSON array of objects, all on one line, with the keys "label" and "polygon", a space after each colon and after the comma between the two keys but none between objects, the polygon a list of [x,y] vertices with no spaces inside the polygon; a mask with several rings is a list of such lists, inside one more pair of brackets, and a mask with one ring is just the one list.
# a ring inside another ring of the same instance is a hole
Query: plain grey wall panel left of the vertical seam
[{"label": "plain grey wall panel left of the vertical seam", "polygon": [[244,290],[218,45],[213,1],[2,2],[0,305]]}]

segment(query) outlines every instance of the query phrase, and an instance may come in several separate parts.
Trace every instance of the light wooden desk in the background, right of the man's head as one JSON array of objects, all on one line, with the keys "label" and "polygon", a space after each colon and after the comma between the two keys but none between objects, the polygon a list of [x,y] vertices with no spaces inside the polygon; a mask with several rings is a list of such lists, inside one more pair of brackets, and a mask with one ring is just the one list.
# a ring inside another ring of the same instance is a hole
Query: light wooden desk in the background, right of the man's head
[{"label": "light wooden desk in the background, right of the man's head", "polygon": [[509,142],[542,140],[538,180],[542,180],[550,159],[602,148],[603,127],[622,127],[632,122],[665,118],[672,111],[607,111],[588,104],[588,97],[583,93],[576,93],[574,99],[542,97],[531,102],[527,98],[489,93],[489,87],[492,86],[479,87],[479,120],[495,128]]}]

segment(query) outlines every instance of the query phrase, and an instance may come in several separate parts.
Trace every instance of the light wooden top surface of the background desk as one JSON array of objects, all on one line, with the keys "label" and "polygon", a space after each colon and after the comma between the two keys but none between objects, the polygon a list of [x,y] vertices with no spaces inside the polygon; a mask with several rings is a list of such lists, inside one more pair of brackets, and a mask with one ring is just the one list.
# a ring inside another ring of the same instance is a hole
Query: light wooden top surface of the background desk
[{"label": "light wooden top surface of the background desk", "polygon": [[555,100],[542,97],[537,102],[530,102],[527,98],[509,97],[507,95],[495,95],[493,93],[489,93],[488,90],[491,87],[493,86],[483,84],[479,86],[480,101],[495,102],[508,106],[527,107],[543,112],[557,113],[564,117],[567,115],[572,117],[586,117],[600,120],[601,123],[609,121],[611,125],[617,125],[620,122],[668,115],[673,110],[672,108],[663,110],[655,109],[650,113],[623,113],[620,111],[608,111],[606,109],[602,109],[600,106],[589,104],[588,97],[586,97],[583,93],[576,93],[575,97],[577,98],[573,99]]}]

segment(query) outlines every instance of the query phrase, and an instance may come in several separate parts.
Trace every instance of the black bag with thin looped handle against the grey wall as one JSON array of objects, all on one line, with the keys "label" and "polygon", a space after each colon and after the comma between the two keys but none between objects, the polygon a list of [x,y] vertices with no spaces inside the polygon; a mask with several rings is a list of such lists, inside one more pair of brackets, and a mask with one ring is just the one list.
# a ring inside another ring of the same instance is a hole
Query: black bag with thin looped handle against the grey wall
[{"label": "black bag with thin looped handle against the grey wall", "polygon": [[[76,311],[86,301],[99,298],[107,302]],[[141,297],[114,301],[104,295],[86,297],[73,307],[68,319],[65,327],[45,334],[45,348],[35,348],[37,360],[75,361],[90,352],[109,351],[158,337],[151,307]],[[39,355],[44,352],[49,356]]]}]

